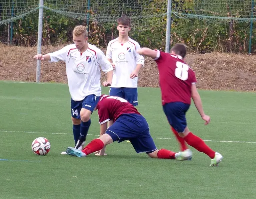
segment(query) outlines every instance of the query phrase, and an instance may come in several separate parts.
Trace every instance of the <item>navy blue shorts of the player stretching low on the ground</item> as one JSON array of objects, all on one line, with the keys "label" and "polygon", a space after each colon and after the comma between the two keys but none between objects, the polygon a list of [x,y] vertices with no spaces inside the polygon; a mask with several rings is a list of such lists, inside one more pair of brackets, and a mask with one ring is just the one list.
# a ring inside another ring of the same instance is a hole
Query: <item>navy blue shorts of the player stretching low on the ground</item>
[{"label": "navy blue shorts of the player stretching low on the ground", "polygon": [[152,153],[157,150],[149,133],[148,123],[142,115],[122,114],[106,130],[106,133],[111,136],[113,141],[130,140],[137,153]]}]

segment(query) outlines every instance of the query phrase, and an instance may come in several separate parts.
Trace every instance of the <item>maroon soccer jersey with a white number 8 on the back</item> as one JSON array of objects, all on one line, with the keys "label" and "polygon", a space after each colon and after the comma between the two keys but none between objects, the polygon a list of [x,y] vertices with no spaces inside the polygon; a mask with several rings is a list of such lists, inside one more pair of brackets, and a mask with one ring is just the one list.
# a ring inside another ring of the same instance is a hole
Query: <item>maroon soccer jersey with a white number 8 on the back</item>
[{"label": "maroon soccer jersey with a white number 8 on the back", "polygon": [[197,82],[194,71],[180,56],[157,51],[162,104],[180,101],[191,103],[191,87]]}]

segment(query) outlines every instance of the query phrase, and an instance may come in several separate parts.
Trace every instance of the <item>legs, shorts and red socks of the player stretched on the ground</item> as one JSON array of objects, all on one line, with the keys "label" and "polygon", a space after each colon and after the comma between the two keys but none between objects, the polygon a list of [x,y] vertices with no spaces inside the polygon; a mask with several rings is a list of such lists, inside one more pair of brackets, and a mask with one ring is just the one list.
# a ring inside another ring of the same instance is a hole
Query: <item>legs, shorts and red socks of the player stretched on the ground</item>
[{"label": "legs, shorts and red socks of the player stretched on the ground", "polygon": [[[101,124],[107,127],[106,122]],[[101,127],[102,128],[102,127]],[[122,114],[106,133],[98,139],[92,140],[82,151],[68,147],[66,152],[76,157],[85,157],[90,153],[99,151],[114,141],[122,142],[130,139],[137,153],[146,152],[151,158],[175,159],[175,154],[166,149],[158,150],[149,133],[146,119],[138,114]],[[101,155],[104,154],[104,151]]]}]

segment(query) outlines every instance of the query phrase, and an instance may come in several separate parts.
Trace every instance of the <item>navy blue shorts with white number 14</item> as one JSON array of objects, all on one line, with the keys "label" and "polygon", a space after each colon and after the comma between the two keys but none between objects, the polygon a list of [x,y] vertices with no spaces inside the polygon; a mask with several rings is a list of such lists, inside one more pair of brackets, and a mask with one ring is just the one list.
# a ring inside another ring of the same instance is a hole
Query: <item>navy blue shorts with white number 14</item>
[{"label": "navy blue shorts with white number 14", "polygon": [[71,99],[71,115],[76,119],[81,119],[80,111],[82,108],[90,110],[93,112],[95,106],[97,105],[100,96],[96,96],[94,94],[86,96],[85,99],[81,101],[75,101]]}]

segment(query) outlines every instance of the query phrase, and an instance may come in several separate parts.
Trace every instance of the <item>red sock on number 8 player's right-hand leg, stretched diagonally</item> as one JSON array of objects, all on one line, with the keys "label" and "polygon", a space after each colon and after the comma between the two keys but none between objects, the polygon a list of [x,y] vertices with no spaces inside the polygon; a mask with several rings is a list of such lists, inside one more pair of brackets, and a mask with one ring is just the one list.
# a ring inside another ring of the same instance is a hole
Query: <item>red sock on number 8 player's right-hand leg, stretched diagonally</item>
[{"label": "red sock on number 8 player's right-hand leg, stretched diagonally", "polygon": [[184,137],[184,140],[190,146],[208,155],[211,159],[215,157],[215,151],[213,151],[209,146],[207,146],[204,140],[194,135],[192,132],[189,132],[189,134],[186,137]]}]

